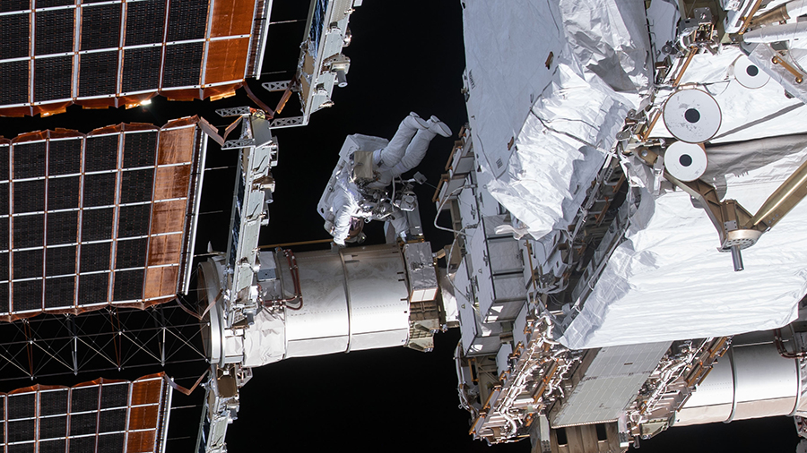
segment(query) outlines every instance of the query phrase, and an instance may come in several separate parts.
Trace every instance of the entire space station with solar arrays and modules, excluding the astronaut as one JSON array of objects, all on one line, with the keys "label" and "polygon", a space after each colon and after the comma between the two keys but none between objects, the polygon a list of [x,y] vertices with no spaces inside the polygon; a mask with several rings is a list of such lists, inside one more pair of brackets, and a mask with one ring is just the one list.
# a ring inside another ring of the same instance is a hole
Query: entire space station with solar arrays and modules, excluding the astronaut
[{"label": "entire space station with solar arrays and modules, excluding the astronaut", "polygon": [[[258,244],[280,152],[273,130],[333,104],[361,4],[311,0],[294,78],[265,84],[283,92],[276,111],[220,109],[234,118],[223,136],[188,117],[0,141],[0,330],[14,332],[3,358],[27,380],[46,365],[48,376],[119,371],[125,349],[166,367],[173,336],[190,357],[178,363],[204,369],[189,438],[223,453],[254,367],[428,352],[435,334],[459,328],[456,391],[475,439],[626,451],[675,425],[772,415],[794,416],[807,438],[805,3],[465,0],[469,124],[432,200],[453,243],[432,251],[412,192],[423,181],[396,175],[366,207],[382,220],[396,209],[404,235],[387,220],[385,244],[295,252]],[[3,30],[29,38],[0,43],[14,88],[0,115],[226,96],[260,73],[271,2],[25,6],[0,13]],[[162,36],[135,27],[138,11],[167,24]],[[39,21],[60,25],[30,27]],[[98,31],[102,22],[111,28]],[[238,62],[216,57],[219,46]],[[134,56],[153,52],[149,75],[160,78],[131,89]],[[274,117],[292,92],[300,116]],[[230,235],[199,262],[198,304],[187,306],[175,295],[189,291],[198,168],[213,142],[238,153]],[[372,155],[387,144],[347,138],[317,206],[326,221],[336,175],[379,182]],[[72,348],[48,352],[65,338]],[[82,362],[89,351],[98,362]],[[171,389],[194,388],[166,372],[35,384],[0,395],[12,407],[0,432],[21,427],[4,437],[12,449],[161,451]]]}]

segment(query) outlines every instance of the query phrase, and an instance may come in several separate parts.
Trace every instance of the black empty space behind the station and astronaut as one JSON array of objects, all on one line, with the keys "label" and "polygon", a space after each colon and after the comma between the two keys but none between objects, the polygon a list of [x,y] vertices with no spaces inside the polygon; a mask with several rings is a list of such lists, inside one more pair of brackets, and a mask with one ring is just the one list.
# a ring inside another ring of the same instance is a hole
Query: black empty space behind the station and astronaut
[{"label": "black empty space behind the station and astronaut", "polygon": [[[277,102],[278,93],[262,90],[260,82],[291,77],[307,9],[306,0],[274,1],[272,21],[290,22],[270,27],[265,75],[261,81],[250,81],[270,106]],[[352,44],[344,52],[351,57],[349,85],[334,90],[334,107],[312,115],[307,127],[277,132],[280,158],[273,169],[277,189],[261,244],[328,237],[316,206],[345,135],[360,132],[389,138],[410,111],[424,117],[438,115],[454,132],[466,121],[460,93],[464,49],[459,1],[366,0],[351,16],[351,30]],[[155,98],[149,107],[130,110],[70,107],[68,113],[48,118],[0,118],[0,134],[12,138],[56,127],[90,132],[120,122],[161,125],[185,115],[203,115],[223,126],[229,120],[213,110],[249,105],[242,91],[236,98],[216,103]],[[292,100],[283,115],[295,115],[297,107]],[[444,173],[453,140],[432,141],[430,154],[418,168],[430,184],[437,184]],[[231,151],[218,150],[213,144],[206,167],[231,167],[235,158]],[[205,175],[202,212],[211,213],[200,217],[197,253],[204,252],[208,242],[216,250],[226,247],[233,177],[232,168]],[[427,226],[435,215],[430,203],[433,192],[427,185],[419,189],[421,217]],[[225,212],[216,214],[217,210]],[[447,218],[442,223],[447,224]],[[381,242],[379,226],[371,224],[367,231],[370,241]],[[434,248],[451,241],[450,235],[433,227],[426,232]],[[239,420],[230,425],[228,434],[229,451],[529,451],[528,440],[488,447],[468,436],[469,415],[457,408],[451,358],[458,338],[456,329],[438,335],[436,350],[430,354],[404,348],[360,351],[256,369],[255,378],[241,391]],[[175,393],[175,405],[182,398]],[[198,423],[197,411],[178,412],[170,423],[192,428]],[[674,428],[643,441],[641,451],[789,453],[797,442],[792,419],[777,417]],[[169,453],[180,451],[172,445],[169,442]]]}]

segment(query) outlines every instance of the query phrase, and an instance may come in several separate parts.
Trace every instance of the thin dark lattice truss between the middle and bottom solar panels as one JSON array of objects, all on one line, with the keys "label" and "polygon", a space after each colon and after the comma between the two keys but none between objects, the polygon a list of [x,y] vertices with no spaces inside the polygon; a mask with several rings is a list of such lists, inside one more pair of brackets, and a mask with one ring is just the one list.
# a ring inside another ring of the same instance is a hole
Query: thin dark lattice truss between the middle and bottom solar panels
[{"label": "thin dark lattice truss between the middle and bottom solar panels", "polygon": [[[0,324],[0,381],[39,380],[65,374],[137,373],[177,366],[196,376],[207,367],[206,326],[178,299],[146,310],[110,306],[80,315],[45,314]],[[188,365],[192,364],[190,368]],[[64,380],[64,378],[61,378]]]}]

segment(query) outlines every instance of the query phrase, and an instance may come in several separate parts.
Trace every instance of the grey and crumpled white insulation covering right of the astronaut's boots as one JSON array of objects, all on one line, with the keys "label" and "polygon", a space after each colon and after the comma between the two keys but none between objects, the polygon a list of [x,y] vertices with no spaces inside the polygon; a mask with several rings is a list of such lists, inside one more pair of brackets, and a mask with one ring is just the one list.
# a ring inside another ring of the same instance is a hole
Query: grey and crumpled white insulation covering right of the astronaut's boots
[{"label": "grey and crumpled white insulation covering right of the astronaut's boots", "polygon": [[464,2],[479,184],[540,238],[574,218],[649,84],[639,0]]}]

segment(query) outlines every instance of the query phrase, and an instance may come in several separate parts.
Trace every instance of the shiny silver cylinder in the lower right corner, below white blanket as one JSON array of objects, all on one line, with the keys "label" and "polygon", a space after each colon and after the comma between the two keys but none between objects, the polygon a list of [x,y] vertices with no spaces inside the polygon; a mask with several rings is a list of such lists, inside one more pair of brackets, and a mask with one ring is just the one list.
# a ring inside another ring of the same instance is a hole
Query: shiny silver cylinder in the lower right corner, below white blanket
[{"label": "shiny silver cylinder in the lower right corner, below white blanket", "polygon": [[690,399],[675,426],[791,415],[801,393],[798,359],[779,355],[771,332],[735,337]]}]

